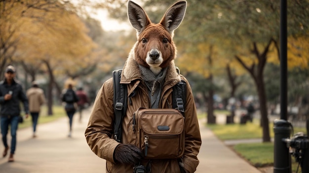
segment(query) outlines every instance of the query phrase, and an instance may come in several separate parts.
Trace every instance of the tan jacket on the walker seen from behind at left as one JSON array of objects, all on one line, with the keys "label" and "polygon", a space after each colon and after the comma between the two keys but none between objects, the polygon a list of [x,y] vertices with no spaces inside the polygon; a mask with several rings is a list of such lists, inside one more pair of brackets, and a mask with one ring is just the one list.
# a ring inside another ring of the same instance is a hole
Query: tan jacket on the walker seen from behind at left
[{"label": "tan jacket on the walker seen from behind at left", "polygon": [[39,113],[40,106],[45,103],[44,92],[39,87],[31,87],[26,92],[29,100],[29,111],[30,113]]}]

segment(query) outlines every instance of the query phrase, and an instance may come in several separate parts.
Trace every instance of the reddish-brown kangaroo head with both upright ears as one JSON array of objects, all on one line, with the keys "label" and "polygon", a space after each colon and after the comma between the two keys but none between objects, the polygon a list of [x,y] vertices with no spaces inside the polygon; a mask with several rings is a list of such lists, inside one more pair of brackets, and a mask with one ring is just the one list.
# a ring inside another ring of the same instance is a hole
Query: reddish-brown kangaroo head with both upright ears
[{"label": "reddish-brown kangaroo head with both upright ears", "polygon": [[187,1],[178,1],[167,9],[158,24],[154,24],[141,6],[128,1],[128,18],[137,32],[137,42],[131,53],[137,63],[150,68],[154,74],[168,66],[176,57],[174,30],[181,24],[186,8]]}]

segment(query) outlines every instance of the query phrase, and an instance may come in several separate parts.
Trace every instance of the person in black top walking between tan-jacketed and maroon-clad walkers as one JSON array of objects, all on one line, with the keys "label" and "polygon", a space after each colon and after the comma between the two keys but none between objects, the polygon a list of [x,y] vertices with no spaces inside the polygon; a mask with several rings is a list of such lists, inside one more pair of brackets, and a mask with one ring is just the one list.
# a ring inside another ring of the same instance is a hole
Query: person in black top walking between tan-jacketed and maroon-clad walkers
[{"label": "person in black top walking between tan-jacketed and maroon-clad walkers", "polygon": [[73,85],[69,84],[68,89],[65,90],[64,94],[62,95],[62,101],[65,102],[65,110],[69,117],[69,124],[70,124],[70,131],[68,137],[72,137],[72,123],[73,123],[73,116],[76,112],[76,104],[78,102],[78,97],[73,90]]}]

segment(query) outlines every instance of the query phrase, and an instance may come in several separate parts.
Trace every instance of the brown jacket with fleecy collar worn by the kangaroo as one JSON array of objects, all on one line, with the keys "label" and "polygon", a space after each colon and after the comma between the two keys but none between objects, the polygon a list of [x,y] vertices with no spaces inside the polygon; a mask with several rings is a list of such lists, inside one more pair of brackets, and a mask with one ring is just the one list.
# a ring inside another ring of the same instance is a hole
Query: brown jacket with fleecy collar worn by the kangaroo
[{"label": "brown jacket with fleecy collar worn by the kangaroo", "polygon": [[[159,108],[171,108],[172,105],[172,87],[181,79],[187,83],[187,102],[185,110],[185,131],[186,131],[186,149],[183,155],[183,163],[186,170],[193,173],[199,163],[197,154],[201,145],[198,120],[193,94],[189,82],[179,75],[172,61],[168,66],[165,76],[165,82],[162,88]],[[122,121],[122,143],[127,144],[127,130],[133,113],[140,107],[150,108],[150,98],[147,87],[141,78],[138,64],[132,58],[128,58],[122,74],[120,83],[128,84],[128,96],[135,90],[136,95],[131,97],[132,104],[128,102],[126,116]],[[134,165],[121,165],[115,163],[113,153],[115,147],[119,144],[112,139],[114,104],[113,104],[113,79],[106,81],[101,87],[95,99],[88,127],[85,131],[85,137],[91,150],[99,157],[106,159],[107,173],[133,173]],[[146,166],[147,160],[142,164]],[[152,160],[151,173],[180,173],[177,159]]]}]

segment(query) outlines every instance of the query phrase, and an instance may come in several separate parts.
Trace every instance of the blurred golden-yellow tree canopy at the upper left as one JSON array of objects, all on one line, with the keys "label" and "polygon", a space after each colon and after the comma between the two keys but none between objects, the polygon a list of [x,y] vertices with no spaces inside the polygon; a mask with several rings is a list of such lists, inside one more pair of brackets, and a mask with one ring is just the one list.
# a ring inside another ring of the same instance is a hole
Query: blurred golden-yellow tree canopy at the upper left
[{"label": "blurred golden-yellow tree canopy at the upper left", "polygon": [[[41,8],[28,8],[30,4]],[[0,37],[18,41],[15,60],[44,60],[62,71],[95,63],[92,52],[97,45],[87,35],[87,28],[58,1],[9,1],[5,5],[0,12]]]}]

